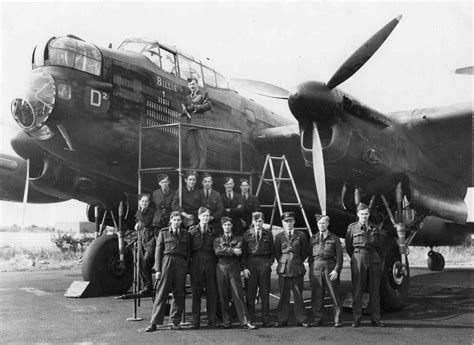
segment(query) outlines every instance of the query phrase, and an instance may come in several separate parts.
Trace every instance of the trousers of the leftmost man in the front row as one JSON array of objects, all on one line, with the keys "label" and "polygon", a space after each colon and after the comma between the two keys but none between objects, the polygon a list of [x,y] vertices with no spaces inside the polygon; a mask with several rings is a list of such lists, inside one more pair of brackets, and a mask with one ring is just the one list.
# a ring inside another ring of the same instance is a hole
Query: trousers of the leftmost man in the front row
[{"label": "trousers of the leftmost man in the front row", "polygon": [[165,255],[163,258],[161,279],[156,288],[155,304],[151,314],[151,324],[163,324],[166,301],[170,292],[173,293],[171,302],[171,322],[178,325],[184,311],[186,292],[186,275],[188,261],[182,256]]}]

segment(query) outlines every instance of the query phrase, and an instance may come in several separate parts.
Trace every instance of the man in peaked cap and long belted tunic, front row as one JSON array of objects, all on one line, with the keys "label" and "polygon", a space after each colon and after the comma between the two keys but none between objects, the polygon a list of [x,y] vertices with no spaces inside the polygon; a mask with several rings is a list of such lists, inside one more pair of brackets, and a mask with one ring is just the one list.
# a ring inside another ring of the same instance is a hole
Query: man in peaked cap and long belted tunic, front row
[{"label": "man in peaked cap and long belted tunic, front row", "polygon": [[293,212],[284,212],[281,220],[284,230],[275,237],[275,256],[278,260],[277,273],[280,285],[278,322],[275,327],[288,325],[291,291],[295,301],[296,322],[300,326],[308,327],[303,306],[303,282],[306,273],[303,262],[308,256],[308,241],[304,233],[294,229]]}]

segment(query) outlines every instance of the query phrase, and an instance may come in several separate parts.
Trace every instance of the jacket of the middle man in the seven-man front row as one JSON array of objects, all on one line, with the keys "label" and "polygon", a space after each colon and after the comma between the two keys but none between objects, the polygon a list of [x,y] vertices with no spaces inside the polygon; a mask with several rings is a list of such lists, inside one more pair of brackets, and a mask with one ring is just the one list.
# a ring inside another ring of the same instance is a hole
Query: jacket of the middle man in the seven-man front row
[{"label": "jacket of the middle man in the seven-man front row", "polygon": [[[263,229],[262,229],[263,230]],[[242,266],[248,269],[248,260],[254,256],[268,257],[271,265],[275,260],[275,245],[273,235],[269,230],[262,231],[262,238],[257,239],[254,228],[247,230],[242,236]]]}]

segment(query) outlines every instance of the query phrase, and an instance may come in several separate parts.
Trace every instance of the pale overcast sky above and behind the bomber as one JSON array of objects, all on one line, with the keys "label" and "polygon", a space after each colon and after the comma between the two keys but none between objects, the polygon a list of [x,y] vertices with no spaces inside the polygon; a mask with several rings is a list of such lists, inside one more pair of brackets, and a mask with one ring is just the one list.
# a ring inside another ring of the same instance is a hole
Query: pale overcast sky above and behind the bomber
[{"label": "pale overcast sky above and behind the bomber", "polygon": [[[1,0],[0,0],[1,1]],[[74,34],[98,46],[127,37],[157,39],[222,74],[291,89],[328,81],[352,52],[403,15],[375,56],[339,88],[391,112],[472,101],[473,5],[465,2],[5,2],[1,1],[0,151],[13,153],[10,104],[21,94],[31,53],[51,36]],[[287,111],[283,101],[273,104]],[[3,183],[3,182],[2,182]],[[76,201],[28,206],[26,224],[85,220]],[[0,202],[0,225],[19,223],[19,204]]]}]

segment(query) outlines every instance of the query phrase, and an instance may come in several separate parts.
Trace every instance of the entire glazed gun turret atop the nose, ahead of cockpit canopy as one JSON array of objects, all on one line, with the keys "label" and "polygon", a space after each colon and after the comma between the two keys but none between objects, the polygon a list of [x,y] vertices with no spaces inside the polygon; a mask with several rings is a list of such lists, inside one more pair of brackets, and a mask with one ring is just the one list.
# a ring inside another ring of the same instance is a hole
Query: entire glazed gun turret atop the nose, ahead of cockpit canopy
[{"label": "entire glazed gun turret atop the nose, ahead of cockpit canopy", "polygon": [[100,76],[102,53],[96,46],[77,37],[53,37],[33,52],[33,68],[64,66]]}]

